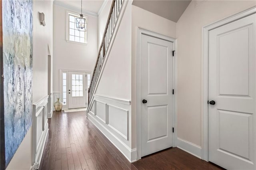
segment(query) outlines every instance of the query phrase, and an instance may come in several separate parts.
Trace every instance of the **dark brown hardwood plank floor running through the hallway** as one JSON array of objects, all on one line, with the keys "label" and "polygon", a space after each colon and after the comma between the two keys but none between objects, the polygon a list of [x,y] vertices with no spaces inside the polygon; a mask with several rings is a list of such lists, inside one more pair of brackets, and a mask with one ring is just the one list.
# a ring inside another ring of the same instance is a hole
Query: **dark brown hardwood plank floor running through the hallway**
[{"label": "dark brown hardwood plank floor running through the hallway", "polygon": [[40,170],[221,169],[178,148],[145,156],[131,164],[86,118],[85,111],[54,112],[48,122]]}]

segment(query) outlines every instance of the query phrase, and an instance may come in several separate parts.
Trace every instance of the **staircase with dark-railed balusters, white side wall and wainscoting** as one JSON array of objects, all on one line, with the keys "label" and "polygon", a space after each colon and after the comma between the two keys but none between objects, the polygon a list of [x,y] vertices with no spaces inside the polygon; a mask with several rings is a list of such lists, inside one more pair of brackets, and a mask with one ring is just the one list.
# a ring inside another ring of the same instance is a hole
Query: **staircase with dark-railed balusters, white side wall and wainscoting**
[{"label": "staircase with dark-railed balusters, white side wall and wainscoting", "polygon": [[131,132],[132,1],[107,3],[110,13],[91,76],[86,117],[133,162],[137,151]]}]

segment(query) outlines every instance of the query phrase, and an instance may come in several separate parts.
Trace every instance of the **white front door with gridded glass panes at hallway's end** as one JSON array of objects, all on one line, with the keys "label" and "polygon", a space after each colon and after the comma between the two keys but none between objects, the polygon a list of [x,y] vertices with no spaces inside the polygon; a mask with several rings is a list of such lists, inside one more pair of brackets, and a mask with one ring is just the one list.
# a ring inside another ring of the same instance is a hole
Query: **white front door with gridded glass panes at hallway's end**
[{"label": "white front door with gridded glass panes at hallway's end", "polygon": [[68,109],[86,107],[86,73],[68,71]]}]

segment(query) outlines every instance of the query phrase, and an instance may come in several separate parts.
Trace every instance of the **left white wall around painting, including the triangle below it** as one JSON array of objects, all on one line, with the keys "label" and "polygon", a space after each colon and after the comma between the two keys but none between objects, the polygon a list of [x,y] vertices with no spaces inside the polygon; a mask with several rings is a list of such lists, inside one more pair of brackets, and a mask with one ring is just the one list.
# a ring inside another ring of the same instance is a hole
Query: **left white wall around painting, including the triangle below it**
[{"label": "left white wall around painting, including the triangle below it", "polygon": [[[33,2],[33,98],[36,102],[47,93],[48,45],[52,55],[52,1]],[[38,12],[44,12],[46,26],[41,26]],[[31,106],[32,107],[32,106]],[[32,128],[14,154],[7,170],[29,170],[32,164]]]}]

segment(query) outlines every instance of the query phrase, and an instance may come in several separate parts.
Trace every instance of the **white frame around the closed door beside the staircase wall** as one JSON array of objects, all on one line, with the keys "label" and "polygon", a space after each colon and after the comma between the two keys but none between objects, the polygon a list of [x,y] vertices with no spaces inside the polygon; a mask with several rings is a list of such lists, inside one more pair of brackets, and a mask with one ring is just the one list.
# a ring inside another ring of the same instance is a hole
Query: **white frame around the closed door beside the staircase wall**
[{"label": "white frame around the closed door beside the staircase wall", "polygon": [[[176,50],[176,39],[158,34],[152,31],[145,30],[143,28],[137,28],[137,44],[136,44],[136,142],[137,142],[137,160],[141,159],[141,38],[142,34],[166,40],[173,43],[173,50]],[[174,53],[172,68],[173,68],[173,147],[177,146],[177,126],[176,126],[176,53]]]}]

